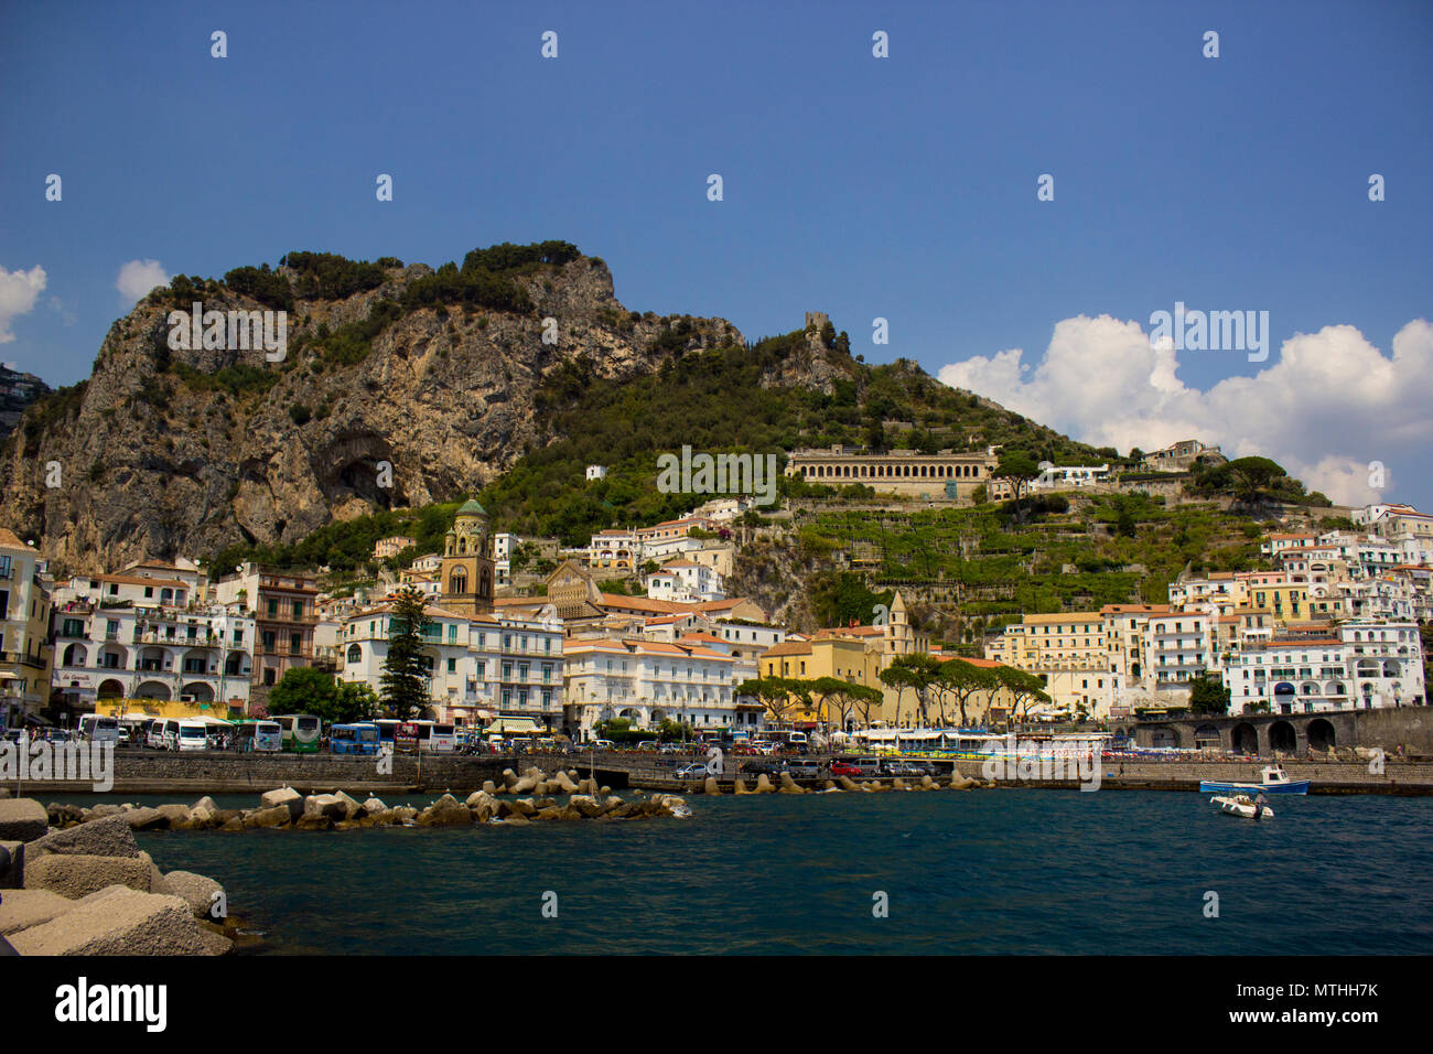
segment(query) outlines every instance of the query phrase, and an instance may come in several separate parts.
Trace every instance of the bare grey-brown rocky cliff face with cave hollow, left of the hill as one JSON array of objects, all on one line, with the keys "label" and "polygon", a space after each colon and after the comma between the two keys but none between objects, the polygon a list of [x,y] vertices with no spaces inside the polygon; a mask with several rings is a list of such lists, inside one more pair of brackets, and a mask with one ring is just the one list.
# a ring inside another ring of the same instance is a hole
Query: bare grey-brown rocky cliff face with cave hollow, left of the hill
[{"label": "bare grey-brown rocky cliff face with cave hollow, left of the hill", "polygon": [[381,284],[342,297],[285,267],[264,278],[292,298],[288,285],[259,303],[252,283],[198,281],[206,311],[292,304],[277,363],[172,348],[168,317],[191,287],[150,294],[110,328],[90,379],[27,409],[4,442],[0,523],[62,572],[287,543],[332,519],[479,490],[552,439],[542,381],[580,356],[623,377],[742,340],[719,318],[629,313],[598,258],[504,274],[527,303],[503,310],[414,305],[408,287],[434,271],[390,262]]}]

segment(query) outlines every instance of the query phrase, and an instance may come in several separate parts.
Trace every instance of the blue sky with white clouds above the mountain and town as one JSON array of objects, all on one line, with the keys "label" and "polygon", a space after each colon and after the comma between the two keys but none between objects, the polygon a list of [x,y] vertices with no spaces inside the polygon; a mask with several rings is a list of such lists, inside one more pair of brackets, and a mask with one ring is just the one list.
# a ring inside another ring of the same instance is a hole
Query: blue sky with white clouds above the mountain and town
[{"label": "blue sky with white clouds above the mountain and town", "polygon": [[[868,360],[952,367],[1080,437],[1149,449],[1175,417],[1315,483],[1379,459],[1383,496],[1430,506],[1427,334],[1401,366],[1371,357],[1433,317],[1430,44],[1433,4],[1391,0],[9,4],[0,268],[44,287],[0,300],[0,359],[86,376],[128,261],[222,275],[298,248],[440,264],[565,238],[632,308],[748,338],[824,310]],[[1078,320],[1148,330],[1175,301],[1267,310],[1270,361],[1181,353],[1178,387],[1116,429],[1112,379],[1161,364]],[[1013,348],[1025,369],[997,369]],[[1106,387],[1060,380],[1091,374]],[[1211,394],[1241,376],[1250,393]],[[1310,420],[1244,427],[1275,403]]]}]

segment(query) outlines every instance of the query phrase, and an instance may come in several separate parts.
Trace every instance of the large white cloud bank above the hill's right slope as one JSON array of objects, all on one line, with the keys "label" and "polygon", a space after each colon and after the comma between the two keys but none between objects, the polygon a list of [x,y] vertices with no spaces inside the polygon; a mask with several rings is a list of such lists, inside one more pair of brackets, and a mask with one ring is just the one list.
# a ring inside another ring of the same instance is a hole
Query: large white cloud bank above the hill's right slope
[{"label": "large white cloud bank above the hill's right slope", "polygon": [[[1179,380],[1168,340],[1151,347],[1138,323],[1109,315],[1058,323],[1035,369],[1023,356],[976,356],[939,376],[1095,446],[1154,450],[1201,439],[1230,457],[1273,457],[1346,503],[1391,496],[1391,466],[1422,463],[1433,440],[1433,326],[1422,318],[1399,330],[1391,357],[1353,326],[1326,326],[1285,340],[1255,376],[1207,391]],[[1381,492],[1369,485],[1374,460],[1390,466]]]}]

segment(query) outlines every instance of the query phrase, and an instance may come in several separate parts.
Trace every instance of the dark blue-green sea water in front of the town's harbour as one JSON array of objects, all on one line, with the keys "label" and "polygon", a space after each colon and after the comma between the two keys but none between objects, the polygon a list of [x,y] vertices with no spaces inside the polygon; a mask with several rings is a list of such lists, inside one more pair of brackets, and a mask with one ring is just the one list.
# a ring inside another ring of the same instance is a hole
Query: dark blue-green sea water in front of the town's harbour
[{"label": "dark blue-green sea water in front of the town's harbour", "polygon": [[688,820],[139,837],[162,869],[218,879],[271,954],[1433,948],[1433,799],[1277,797],[1262,823],[1194,792],[689,803]]}]

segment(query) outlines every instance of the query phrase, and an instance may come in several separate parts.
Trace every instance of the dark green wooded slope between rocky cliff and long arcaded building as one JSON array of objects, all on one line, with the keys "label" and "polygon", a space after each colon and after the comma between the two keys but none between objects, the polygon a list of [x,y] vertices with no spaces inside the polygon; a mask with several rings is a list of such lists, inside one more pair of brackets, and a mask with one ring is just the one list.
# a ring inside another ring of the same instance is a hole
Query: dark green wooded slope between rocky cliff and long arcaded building
[{"label": "dark green wooded slope between rocky cliff and long arcaded building", "polygon": [[[715,348],[686,350],[694,330],[672,321],[653,347],[669,351],[655,374],[609,380],[586,359],[555,369],[537,391],[557,439],[522,457],[480,495],[503,529],[586,542],[610,526],[656,523],[704,500],[701,495],[663,495],[655,489],[656,459],[694,453],[775,453],[777,472],[785,450],[835,443],[864,446],[880,430],[883,446],[907,446],[923,437],[931,449],[980,449],[1019,445],[1030,457],[1088,459],[1091,447],[1050,429],[982,403],[929,377],[907,360],[867,366],[841,354],[840,336],[830,337],[831,360],[845,371],[830,394],[794,384],[765,387],[762,380],[802,351],[797,330],[751,346],[727,340]],[[830,334],[828,334],[830,336]],[[913,427],[886,436],[883,422]],[[603,480],[586,482],[588,465],[609,469]],[[781,479],[781,493],[821,496],[827,488]],[[854,495],[851,495],[854,496]]]}]

